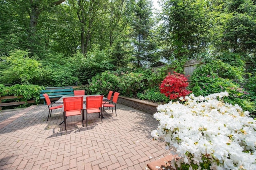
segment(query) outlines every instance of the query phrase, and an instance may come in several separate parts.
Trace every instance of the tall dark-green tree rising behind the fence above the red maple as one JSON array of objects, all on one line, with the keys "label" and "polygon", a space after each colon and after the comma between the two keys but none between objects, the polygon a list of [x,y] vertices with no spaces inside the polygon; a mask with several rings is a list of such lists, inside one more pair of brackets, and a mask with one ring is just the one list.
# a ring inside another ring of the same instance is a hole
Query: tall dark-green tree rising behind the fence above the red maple
[{"label": "tall dark-green tree rising behind the fence above the red maple", "polygon": [[206,1],[164,0],[161,19],[166,59],[181,62],[206,51],[210,25]]}]

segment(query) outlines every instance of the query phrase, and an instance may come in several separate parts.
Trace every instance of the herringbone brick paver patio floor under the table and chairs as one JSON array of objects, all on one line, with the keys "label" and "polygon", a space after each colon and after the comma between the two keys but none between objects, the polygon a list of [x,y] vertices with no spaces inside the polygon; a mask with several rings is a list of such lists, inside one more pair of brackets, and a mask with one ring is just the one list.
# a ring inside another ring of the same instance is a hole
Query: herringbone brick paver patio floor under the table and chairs
[{"label": "herringbone brick paver patio floor under the table and chairs", "polygon": [[88,115],[67,119],[61,109],[47,120],[46,105],[0,113],[1,170],[146,170],[147,164],[169,154],[162,141],[150,133],[158,121],[151,114],[121,104],[117,116]]}]

